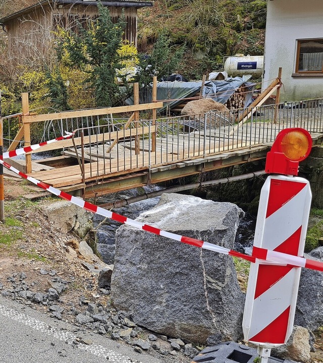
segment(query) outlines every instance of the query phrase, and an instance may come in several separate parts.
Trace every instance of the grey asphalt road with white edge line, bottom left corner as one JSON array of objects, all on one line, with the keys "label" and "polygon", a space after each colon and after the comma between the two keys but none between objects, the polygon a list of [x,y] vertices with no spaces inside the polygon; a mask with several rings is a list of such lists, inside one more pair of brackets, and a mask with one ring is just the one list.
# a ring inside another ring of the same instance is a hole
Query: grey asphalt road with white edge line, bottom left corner
[{"label": "grey asphalt road with white edge line, bottom left corner", "polygon": [[1,363],[165,363],[0,296]]}]

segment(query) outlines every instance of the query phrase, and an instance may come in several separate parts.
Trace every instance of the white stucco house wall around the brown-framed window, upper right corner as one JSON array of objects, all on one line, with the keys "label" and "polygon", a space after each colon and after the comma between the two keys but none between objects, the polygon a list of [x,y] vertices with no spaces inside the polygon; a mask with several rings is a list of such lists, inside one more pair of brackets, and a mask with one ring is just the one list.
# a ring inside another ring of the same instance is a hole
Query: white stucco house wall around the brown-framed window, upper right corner
[{"label": "white stucco house wall around the brown-framed window, upper right corner", "polygon": [[263,88],[282,67],[281,101],[323,97],[323,74],[292,77],[297,40],[307,38],[323,38],[323,0],[267,0]]}]

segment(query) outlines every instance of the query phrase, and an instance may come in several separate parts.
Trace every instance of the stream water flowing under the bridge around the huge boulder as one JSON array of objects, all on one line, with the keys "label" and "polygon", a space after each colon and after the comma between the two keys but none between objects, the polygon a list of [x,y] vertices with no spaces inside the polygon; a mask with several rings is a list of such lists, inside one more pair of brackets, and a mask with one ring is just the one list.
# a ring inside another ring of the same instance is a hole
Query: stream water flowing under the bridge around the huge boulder
[{"label": "stream water flowing under the bridge around the huge boulder", "polygon": [[[158,186],[144,187],[146,193],[152,192],[154,190],[160,190]],[[119,192],[114,195],[104,197],[101,202],[110,202],[113,200],[130,198],[138,194],[137,189],[131,189],[124,192]],[[125,217],[136,219],[140,213],[152,209],[159,200],[160,197],[155,197],[151,199],[141,200],[135,203],[131,203],[120,208],[114,208],[115,213],[121,214]],[[253,243],[254,229],[255,229],[255,217],[245,214],[245,216],[240,220],[239,227],[237,230],[234,249],[239,252],[251,253],[251,247]],[[114,263],[114,250],[115,250],[115,235],[117,228],[121,225],[119,222],[113,220],[105,220],[103,222],[103,217],[99,215],[94,215],[93,217],[94,228],[97,231],[97,249],[100,253],[103,261],[106,264]]]}]

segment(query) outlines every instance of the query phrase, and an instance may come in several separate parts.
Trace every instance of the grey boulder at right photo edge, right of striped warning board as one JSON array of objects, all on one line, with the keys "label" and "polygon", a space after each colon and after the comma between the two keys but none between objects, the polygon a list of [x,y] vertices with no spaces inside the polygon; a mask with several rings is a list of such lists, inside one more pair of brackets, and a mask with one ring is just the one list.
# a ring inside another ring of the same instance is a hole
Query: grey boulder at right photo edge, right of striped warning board
[{"label": "grey boulder at right photo edge, right of striped warning board", "polygon": [[[313,249],[306,258],[323,262],[323,247]],[[314,331],[323,325],[323,272],[302,269],[294,324]]]}]

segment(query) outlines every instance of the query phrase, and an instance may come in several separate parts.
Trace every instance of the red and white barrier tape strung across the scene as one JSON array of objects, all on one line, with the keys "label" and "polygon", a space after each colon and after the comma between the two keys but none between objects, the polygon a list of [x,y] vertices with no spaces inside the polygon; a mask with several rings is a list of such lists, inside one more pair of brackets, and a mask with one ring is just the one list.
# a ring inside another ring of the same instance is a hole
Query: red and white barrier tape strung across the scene
[{"label": "red and white barrier tape strung across the scene", "polygon": [[[43,146],[45,144],[55,142],[55,141],[58,141],[58,140],[62,140],[63,138],[66,139],[66,138],[69,138],[69,137],[72,137],[72,134],[60,137],[58,139],[47,141],[45,143],[32,145],[32,146],[27,146],[27,147],[24,147],[22,149],[17,149],[17,150],[15,150],[16,151],[15,155],[21,155],[21,154],[24,154],[26,152],[29,152],[30,150],[35,150],[36,148],[39,148],[39,147],[41,147],[41,146]],[[35,147],[35,148],[33,148],[33,147]],[[10,151],[10,152],[13,152],[13,151]],[[3,158],[4,159],[8,158],[7,154],[9,155],[10,152],[9,153],[4,153]],[[208,250],[213,251],[213,252],[218,252],[218,253],[227,254],[227,255],[230,255],[230,256],[243,258],[244,260],[250,261],[252,263],[255,263],[257,261],[257,262],[259,262],[261,264],[282,265],[282,266],[290,265],[290,266],[304,267],[304,268],[307,268],[307,269],[317,270],[317,271],[322,271],[323,272],[323,263],[322,262],[309,260],[308,258],[304,258],[304,257],[300,257],[300,256],[294,256],[294,255],[291,255],[291,254],[288,254],[288,253],[271,251],[271,250],[267,250],[267,249],[259,248],[259,247],[253,247],[252,255],[249,256],[247,254],[240,253],[240,252],[234,251],[234,250],[229,249],[229,248],[221,247],[221,246],[218,246],[216,244],[212,244],[212,243],[201,241],[201,240],[198,240],[198,239],[195,239],[195,238],[181,236],[179,234],[170,233],[170,232],[167,232],[167,231],[160,230],[158,228],[149,226],[147,224],[144,224],[144,223],[141,223],[141,222],[138,222],[138,221],[134,221],[134,220],[132,220],[130,218],[121,216],[120,214],[105,210],[103,208],[100,208],[97,205],[94,205],[94,204],[92,204],[90,202],[87,202],[87,201],[84,201],[84,200],[82,200],[80,198],[72,196],[72,195],[70,195],[68,193],[65,193],[62,190],[56,189],[56,188],[54,188],[54,187],[52,187],[52,186],[50,186],[50,185],[48,185],[46,183],[43,183],[43,182],[41,182],[41,181],[39,181],[39,180],[37,180],[35,178],[32,178],[32,177],[20,172],[16,168],[14,168],[11,165],[4,162],[1,158],[0,158],[0,164],[4,165],[7,169],[13,171],[14,173],[20,175],[22,178],[29,180],[33,184],[36,184],[40,188],[42,188],[44,190],[47,190],[50,193],[55,194],[55,195],[59,196],[62,199],[66,199],[66,200],[72,202],[73,204],[78,205],[81,208],[86,209],[89,212],[98,214],[98,215],[100,215],[102,217],[110,218],[110,219],[112,219],[114,221],[124,223],[124,224],[129,225],[129,226],[133,226],[133,227],[141,229],[143,231],[147,231],[147,232],[150,232],[150,233],[157,234],[159,236],[167,237],[167,238],[173,239],[175,241],[180,241],[180,242],[183,242],[183,243],[186,243],[186,244],[190,244],[190,245],[195,246],[195,247],[208,249]]]}]

